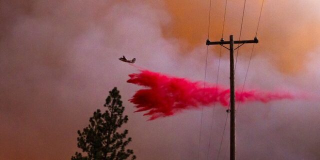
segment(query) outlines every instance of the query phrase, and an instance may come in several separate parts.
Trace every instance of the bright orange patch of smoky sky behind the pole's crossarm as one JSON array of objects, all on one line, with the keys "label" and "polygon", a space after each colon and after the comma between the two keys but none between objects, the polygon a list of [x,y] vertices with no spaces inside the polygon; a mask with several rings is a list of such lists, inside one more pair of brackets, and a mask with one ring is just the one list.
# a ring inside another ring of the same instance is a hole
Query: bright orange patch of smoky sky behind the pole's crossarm
[{"label": "bright orange patch of smoky sky behind the pole's crossarm", "polygon": [[[181,39],[181,53],[211,41],[219,41],[222,34],[224,0],[211,2],[210,30],[208,33],[209,0],[166,0],[172,15],[171,25],[162,25],[166,38]],[[230,34],[237,39],[240,33],[244,0],[228,0],[223,38]],[[241,39],[253,39],[262,0],[246,0]],[[318,47],[320,14],[317,0],[264,0],[257,52],[271,56],[271,63],[282,73],[296,74],[305,70],[307,54]],[[218,47],[211,47],[218,52]],[[240,48],[241,56],[249,56],[250,47]]]}]

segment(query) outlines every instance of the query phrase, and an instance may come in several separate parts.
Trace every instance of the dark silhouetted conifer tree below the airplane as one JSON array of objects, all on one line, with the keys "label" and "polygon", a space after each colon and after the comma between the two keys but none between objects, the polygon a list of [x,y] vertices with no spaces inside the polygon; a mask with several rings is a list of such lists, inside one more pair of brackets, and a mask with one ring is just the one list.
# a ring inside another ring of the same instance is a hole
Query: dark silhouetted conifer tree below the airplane
[{"label": "dark silhouetted conifer tree below the airplane", "polygon": [[109,96],[105,99],[104,106],[107,108],[104,113],[97,109],[90,117],[90,124],[77,131],[77,146],[86,153],[82,155],[75,152],[71,160],[121,160],[135,159],[132,149],[125,149],[131,141],[131,137],[126,138],[128,130],[122,133],[116,132],[117,128],[128,121],[127,115],[122,115],[124,106],[119,91],[114,87],[109,91]]}]

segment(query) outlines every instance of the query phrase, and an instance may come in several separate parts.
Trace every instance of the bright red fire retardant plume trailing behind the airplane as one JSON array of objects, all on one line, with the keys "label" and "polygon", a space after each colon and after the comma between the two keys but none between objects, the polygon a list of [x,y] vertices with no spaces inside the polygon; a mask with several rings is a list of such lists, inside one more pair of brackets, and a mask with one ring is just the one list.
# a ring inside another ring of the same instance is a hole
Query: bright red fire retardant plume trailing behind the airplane
[{"label": "bright red fire retardant plume trailing behind the airplane", "polygon": [[[228,106],[230,89],[212,87],[212,84],[203,87],[201,82],[191,82],[185,78],[171,77],[149,70],[140,70],[140,73],[129,76],[127,82],[146,87],[136,91],[129,101],[135,104],[136,111],[147,111],[143,115],[149,115],[150,120],[173,115],[183,109],[208,106],[215,102]],[[235,91],[235,100],[240,102],[268,102],[292,98],[294,96],[289,93]]]}]

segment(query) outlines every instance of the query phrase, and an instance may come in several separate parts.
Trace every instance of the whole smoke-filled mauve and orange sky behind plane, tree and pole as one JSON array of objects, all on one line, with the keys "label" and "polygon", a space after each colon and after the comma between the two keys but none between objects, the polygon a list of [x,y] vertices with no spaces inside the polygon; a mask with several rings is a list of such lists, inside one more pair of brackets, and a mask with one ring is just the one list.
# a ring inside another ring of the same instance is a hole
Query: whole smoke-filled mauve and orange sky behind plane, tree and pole
[{"label": "whole smoke-filled mauve and orange sky behind plane, tree and pole", "polygon": [[[209,38],[222,33],[224,0],[212,0]],[[262,0],[246,0],[241,39],[252,39]],[[228,0],[224,39],[239,37],[244,0]],[[0,157],[69,159],[76,131],[103,109],[117,86],[137,159],[196,159],[201,110],[146,121],[127,100],[137,68],[203,80],[209,0],[0,0]],[[318,0],[264,0],[247,89],[320,93]],[[243,85],[252,44],[241,46],[236,87]],[[216,81],[219,47],[209,46],[208,82]],[[228,86],[222,49],[218,83]],[[318,96],[317,96],[318,97]],[[250,102],[237,110],[238,159],[320,159],[318,98]],[[203,109],[200,159],[216,159],[225,108]],[[228,124],[227,124],[228,126]],[[219,159],[228,158],[228,127]],[[209,151],[208,151],[209,150]]]}]

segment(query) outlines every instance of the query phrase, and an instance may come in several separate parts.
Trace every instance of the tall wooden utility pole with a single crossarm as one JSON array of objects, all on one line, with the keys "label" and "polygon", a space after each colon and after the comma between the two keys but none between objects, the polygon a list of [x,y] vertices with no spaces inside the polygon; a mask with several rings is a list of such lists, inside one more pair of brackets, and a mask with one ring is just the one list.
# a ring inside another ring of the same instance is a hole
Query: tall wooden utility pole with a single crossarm
[{"label": "tall wooden utility pole with a single crossarm", "polygon": [[[230,35],[230,41],[224,41],[223,38],[220,41],[206,40],[206,45],[219,44],[225,47],[223,44],[229,44],[228,50],[230,50],[230,109],[226,112],[230,112],[230,160],[235,160],[235,92],[234,92],[234,56],[233,51],[245,43],[258,43],[257,37],[253,40],[233,40],[233,35]],[[233,44],[240,44],[238,47],[233,49]]]}]

